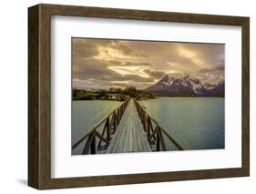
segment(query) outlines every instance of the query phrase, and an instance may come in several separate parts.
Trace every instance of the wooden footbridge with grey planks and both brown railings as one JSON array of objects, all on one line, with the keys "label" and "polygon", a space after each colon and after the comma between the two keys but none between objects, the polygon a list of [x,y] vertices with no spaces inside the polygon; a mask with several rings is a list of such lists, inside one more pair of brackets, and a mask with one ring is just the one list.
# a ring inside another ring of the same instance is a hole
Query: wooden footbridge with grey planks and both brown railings
[{"label": "wooden footbridge with grey planks and both brown railings", "polygon": [[72,149],[82,146],[80,154],[166,151],[166,140],[179,150],[185,149],[136,99],[128,98],[78,138]]}]

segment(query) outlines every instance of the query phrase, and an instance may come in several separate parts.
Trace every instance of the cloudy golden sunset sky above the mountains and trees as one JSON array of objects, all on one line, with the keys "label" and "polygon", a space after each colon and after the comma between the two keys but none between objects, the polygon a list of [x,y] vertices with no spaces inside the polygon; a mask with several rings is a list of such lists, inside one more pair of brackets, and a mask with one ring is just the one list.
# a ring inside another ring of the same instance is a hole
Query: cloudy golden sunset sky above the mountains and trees
[{"label": "cloudy golden sunset sky above the mountains and trees", "polygon": [[224,80],[224,45],[72,38],[73,87],[146,88],[166,74]]}]

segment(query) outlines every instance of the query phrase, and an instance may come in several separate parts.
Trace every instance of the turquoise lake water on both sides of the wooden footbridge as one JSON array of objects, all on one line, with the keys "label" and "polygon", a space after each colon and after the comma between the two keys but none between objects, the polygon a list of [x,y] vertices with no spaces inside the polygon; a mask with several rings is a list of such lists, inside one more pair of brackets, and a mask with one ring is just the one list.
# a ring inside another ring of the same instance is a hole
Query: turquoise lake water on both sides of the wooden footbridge
[{"label": "turquoise lake water on both sides of the wooden footbridge", "polygon": [[[72,142],[117,108],[116,101],[73,101]],[[224,148],[223,97],[160,97],[139,101],[162,128],[186,149]],[[176,148],[166,140],[169,150]],[[73,154],[81,151],[77,147]]]}]

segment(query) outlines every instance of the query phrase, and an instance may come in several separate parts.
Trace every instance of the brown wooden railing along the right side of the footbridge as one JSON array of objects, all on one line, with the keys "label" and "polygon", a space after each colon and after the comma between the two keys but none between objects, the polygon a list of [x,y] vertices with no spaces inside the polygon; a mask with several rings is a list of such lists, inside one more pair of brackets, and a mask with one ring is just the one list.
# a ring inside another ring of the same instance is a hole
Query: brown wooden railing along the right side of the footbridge
[{"label": "brown wooden railing along the right side of the footbridge", "polygon": [[149,116],[145,108],[141,107],[136,99],[134,99],[134,103],[151,148],[152,145],[155,145],[156,151],[166,151],[167,148],[165,139],[163,138],[164,135],[173,143],[176,148],[178,148],[179,150],[185,149],[175,138],[169,135],[169,133],[165,129],[161,128],[159,123],[154,118]]}]

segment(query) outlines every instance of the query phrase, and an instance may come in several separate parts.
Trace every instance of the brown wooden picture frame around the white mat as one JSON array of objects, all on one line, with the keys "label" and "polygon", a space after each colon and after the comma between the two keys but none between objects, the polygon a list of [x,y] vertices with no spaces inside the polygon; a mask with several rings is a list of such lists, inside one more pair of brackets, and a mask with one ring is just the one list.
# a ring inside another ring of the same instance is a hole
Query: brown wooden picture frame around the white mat
[{"label": "brown wooden picture frame around the white mat", "polygon": [[[241,168],[214,168],[88,177],[51,177],[51,16],[241,26]],[[28,185],[35,189],[94,187],[250,175],[250,19],[73,5],[28,8]]]}]

